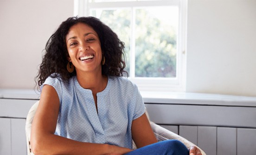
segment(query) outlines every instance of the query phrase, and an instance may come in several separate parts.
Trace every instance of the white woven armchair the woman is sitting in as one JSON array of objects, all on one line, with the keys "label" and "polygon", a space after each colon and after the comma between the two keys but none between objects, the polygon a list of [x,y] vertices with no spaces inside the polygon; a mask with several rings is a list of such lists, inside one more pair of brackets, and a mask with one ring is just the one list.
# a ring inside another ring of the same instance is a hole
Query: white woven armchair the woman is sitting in
[{"label": "white woven armchair the woman is sitting in", "polygon": [[[27,114],[27,118],[26,118],[27,155],[34,155],[31,151],[31,147],[30,147],[30,133],[31,133],[32,121],[33,121],[34,115],[36,113],[38,104],[39,104],[39,101],[37,101],[34,105],[32,105],[32,107],[30,108],[30,110]],[[146,112],[146,114],[147,114],[147,112]],[[189,142],[188,140],[186,140],[182,136],[179,136],[179,135],[173,133],[172,131],[169,131],[169,130],[165,129],[165,128],[155,124],[154,122],[150,121],[150,125],[151,125],[151,127],[154,131],[154,134],[155,134],[158,141],[164,141],[164,140],[168,140],[168,139],[176,139],[176,140],[179,140],[180,142],[184,143],[188,149],[192,145],[196,146],[195,144]],[[133,143],[133,149],[136,149],[136,145],[134,143]],[[202,155],[206,155],[205,152],[202,149],[200,149],[200,150],[202,152]]]}]

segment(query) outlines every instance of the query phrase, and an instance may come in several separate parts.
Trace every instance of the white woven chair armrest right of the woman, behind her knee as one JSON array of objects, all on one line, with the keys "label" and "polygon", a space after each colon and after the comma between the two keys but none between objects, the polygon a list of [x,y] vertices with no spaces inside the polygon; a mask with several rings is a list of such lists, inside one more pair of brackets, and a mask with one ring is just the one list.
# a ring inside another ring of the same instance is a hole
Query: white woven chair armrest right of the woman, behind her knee
[{"label": "white woven chair armrest right of the woman, behind her knee", "polygon": [[[182,136],[179,136],[172,131],[169,131],[160,125],[155,124],[154,122],[150,122],[151,128],[154,131],[154,134],[156,136],[157,141],[164,141],[168,139],[175,139],[183,143],[187,149],[190,149],[191,146],[196,146],[195,144],[191,143],[190,141],[186,140],[186,138],[183,138]],[[196,146],[198,149],[200,149],[198,146]],[[202,155],[206,155],[205,152],[200,149]]]}]

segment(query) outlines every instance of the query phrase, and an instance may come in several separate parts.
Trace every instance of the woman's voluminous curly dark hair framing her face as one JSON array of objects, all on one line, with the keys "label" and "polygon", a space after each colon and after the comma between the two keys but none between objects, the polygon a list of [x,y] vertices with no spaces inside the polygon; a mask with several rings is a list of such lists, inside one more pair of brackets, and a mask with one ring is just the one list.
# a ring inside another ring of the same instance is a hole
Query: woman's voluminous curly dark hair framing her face
[{"label": "woman's voluminous curly dark hair framing her face", "polygon": [[[105,56],[105,64],[102,65],[102,74],[107,76],[128,75],[125,68],[124,43],[120,41],[115,32],[109,26],[94,17],[70,17],[58,27],[51,35],[45,45],[45,55],[43,56],[36,81],[41,86],[48,76],[61,77],[68,81],[70,77],[76,75],[76,71],[67,71],[67,57],[69,56],[66,46],[66,35],[70,27],[77,23],[84,23],[93,28],[99,36],[102,53]],[[56,74],[53,74],[56,73]]]}]

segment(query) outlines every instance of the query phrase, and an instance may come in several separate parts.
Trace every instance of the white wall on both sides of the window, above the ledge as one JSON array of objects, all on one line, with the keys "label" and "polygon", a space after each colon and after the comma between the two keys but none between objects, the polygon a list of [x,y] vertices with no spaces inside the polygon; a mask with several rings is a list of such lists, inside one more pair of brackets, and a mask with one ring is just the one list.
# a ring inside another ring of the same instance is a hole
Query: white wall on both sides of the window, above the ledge
[{"label": "white wall on both sides of the window, above the ledge", "polygon": [[[34,87],[73,0],[0,0],[0,88]],[[256,0],[188,0],[186,91],[256,96]]]}]

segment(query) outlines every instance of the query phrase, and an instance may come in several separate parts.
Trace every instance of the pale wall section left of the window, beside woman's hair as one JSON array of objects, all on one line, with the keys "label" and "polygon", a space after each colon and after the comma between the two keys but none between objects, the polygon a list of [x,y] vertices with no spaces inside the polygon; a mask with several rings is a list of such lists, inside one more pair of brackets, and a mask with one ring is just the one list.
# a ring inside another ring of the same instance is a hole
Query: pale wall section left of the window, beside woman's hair
[{"label": "pale wall section left of the window, beside woman's hair", "polygon": [[73,0],[0,0],[0,88],[34,88],[45,43],[73,16],[73,6]]}]

